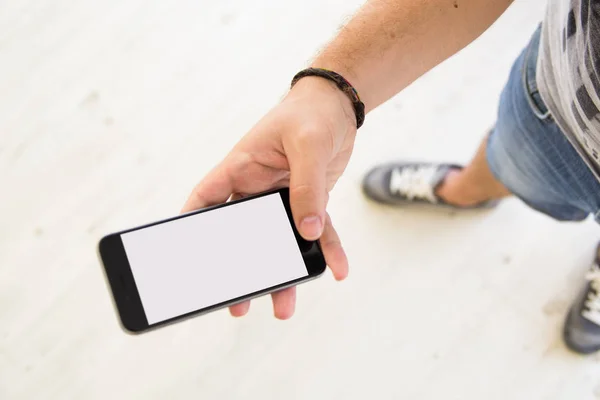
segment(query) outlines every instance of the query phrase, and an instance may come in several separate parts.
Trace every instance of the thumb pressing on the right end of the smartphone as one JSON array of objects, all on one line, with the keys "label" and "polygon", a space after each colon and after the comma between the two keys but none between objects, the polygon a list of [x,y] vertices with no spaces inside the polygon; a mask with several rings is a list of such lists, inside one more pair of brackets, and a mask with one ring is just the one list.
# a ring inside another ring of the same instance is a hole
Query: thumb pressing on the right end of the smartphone
[{"label": "thumb pressing on the right end of the smartphone", "polygon": [[317,240],[325,225],[326,156],[315,152],[298,152],[295,157],[289,157],[288,162],[294,222],[304,239]]}]

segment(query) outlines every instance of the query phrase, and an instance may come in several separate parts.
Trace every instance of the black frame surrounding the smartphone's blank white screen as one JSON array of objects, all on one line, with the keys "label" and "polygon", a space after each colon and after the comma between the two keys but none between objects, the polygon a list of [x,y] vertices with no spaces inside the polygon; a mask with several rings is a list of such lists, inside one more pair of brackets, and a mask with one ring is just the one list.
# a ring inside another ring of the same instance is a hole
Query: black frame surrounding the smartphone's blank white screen
[{"label": "black frame surrounding the smartphone's blank white screen", "polygon": [[[306,270],[308,271],[308,275],[302,278],[298,278],[289,282],[282,283],[280,285],[276,285],[273,287],[268,287],[262,289],[257,292],[253,292],[244,296],[240,296],[234,299],[230,299],[218,304],[211,305],[209,307],[205,307],[196,311],[192,311],[190,313],[186,313],[180,316],[173,317],[171,319],[157,322],[155,324],[148,324],[148,320],[146,319],[146,314],[144,312],[144,308],[142,305],[142,301],[137,289],[137,285],[135,283],[135,279],[133,277],[133,273],[129,266],[129,261],[127,260],[127,255],[125,253],[125,248],[123,247],[123,241],[121,240],[121,235],[127,232],[136,231],[139,229],[148,228],[150,226],[164,224],[170,221],[174,221],[181,218],[186,218],[192,215],[212,211],[222,207],[228,207],[234,204],[238,204],[245,201],[251,201],[253,199],[269,196],[275,193],[279,193],[283,205],[285,207],[288,220],[294,232],[294,236],[296,238],[296,243],[298,243],[298,248],[300,249],[300,253],[302,254],[302,259],[304,260],[304,265],[306,266]],[[185,318],[198,316],[201,314],[205,314],[211,311],[218,310],[220,308],[228,307],[236,303],[240,303],[245,300],[252,299],[254,297],[259,297],[265,295],[267,293],[271,293],[277,290],[284,289],[286,287],[295,286],[297,284],[309,281],[311,279],[317,278],[322,275],[326,269],[325,257],[323,256],[323,252],[321,250],[321,245],[318,241],[307,241],[296,229],[296,225],[294,224],[294,219],[292,216],[292,210],[290,207],[289,201],[289,189],[283,188],[278,190],[272,190],[252,196],[245,197],[243,199],[230,201],[223,204],[218,204],[212,207],[203,208],[200,210],[195,210],[189,213],[181,214],[176,217],[167,218],[164,220],[152,222],[149,224],[141,225],[135,228],[127,229],[120,232],[115,232],[109,235],[106,235],[100,240],[98,244],[98,253],[104,266],[105,276],[108,282],[108,286],[110,291],[112,292],[112,298],[114,306],[119,314],[119,319],[121,322],[121,326],[130,333],[141,333],[150,329],[157,328],[159,326],[163,326],[169,323],[177,322]]]}]

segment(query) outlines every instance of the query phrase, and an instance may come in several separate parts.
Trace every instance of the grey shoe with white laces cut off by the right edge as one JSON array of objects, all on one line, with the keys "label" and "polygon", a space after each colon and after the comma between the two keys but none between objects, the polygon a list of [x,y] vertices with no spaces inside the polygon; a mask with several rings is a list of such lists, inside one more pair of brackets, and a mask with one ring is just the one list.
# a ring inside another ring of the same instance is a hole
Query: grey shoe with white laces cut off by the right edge
[{"label": "grey shoe with white laces cut off by the right edge", "polygon": [[564,328],[567,347],[580,354],[600,350],[600,245],[586,280],[588,282],[571,307]]}]

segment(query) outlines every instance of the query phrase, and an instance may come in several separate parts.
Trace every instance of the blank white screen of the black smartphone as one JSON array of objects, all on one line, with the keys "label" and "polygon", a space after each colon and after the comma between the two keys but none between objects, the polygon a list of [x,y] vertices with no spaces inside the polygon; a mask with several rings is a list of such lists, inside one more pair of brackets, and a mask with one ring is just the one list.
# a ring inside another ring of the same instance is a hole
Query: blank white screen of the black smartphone
[{"label": "blank white screen of the black smartphone", "polygon": [[121,239],[149,324],[308,275],[278,193]]}]

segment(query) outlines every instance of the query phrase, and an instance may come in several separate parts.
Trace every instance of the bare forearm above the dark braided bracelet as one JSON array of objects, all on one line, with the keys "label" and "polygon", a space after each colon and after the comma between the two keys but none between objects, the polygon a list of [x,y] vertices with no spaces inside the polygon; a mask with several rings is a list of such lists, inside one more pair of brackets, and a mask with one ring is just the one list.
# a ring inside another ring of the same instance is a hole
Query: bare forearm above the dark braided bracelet
[{"label": "bare forearm above the dark braided bracelet", "polygon": [[371,0],[313,67],[342,74],[370,111],[471,43],[511,0]]}]

